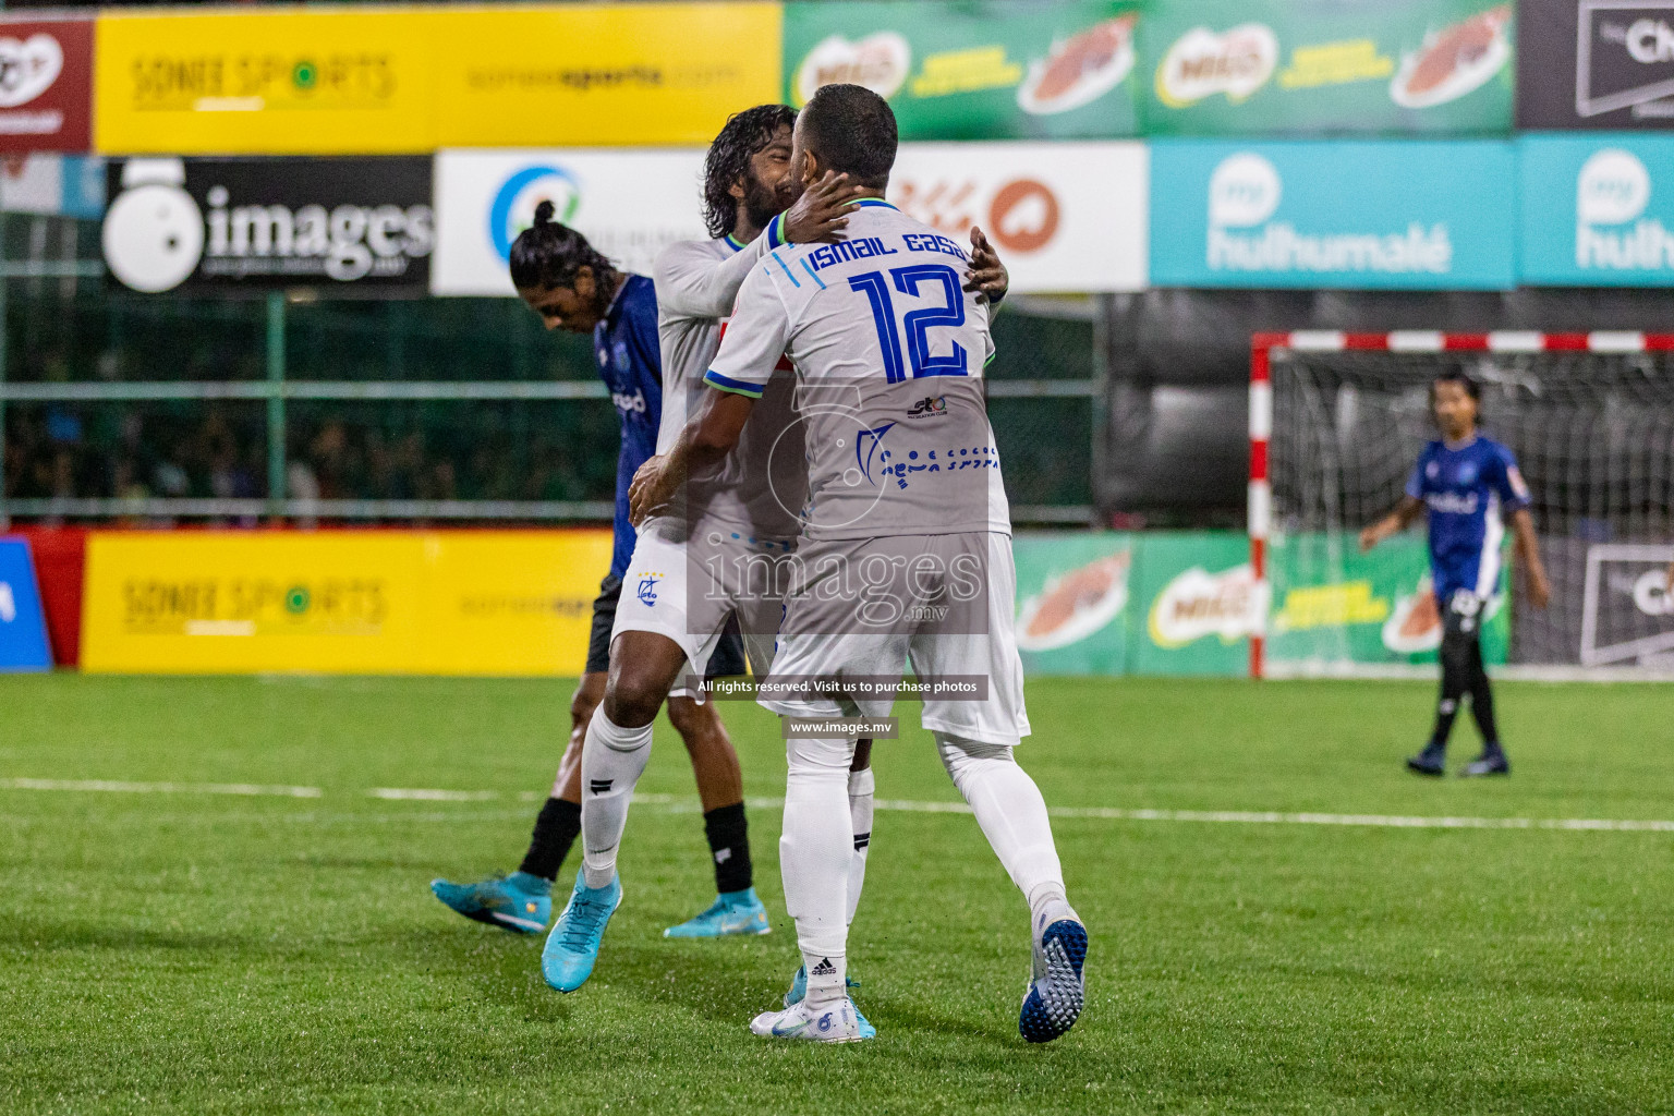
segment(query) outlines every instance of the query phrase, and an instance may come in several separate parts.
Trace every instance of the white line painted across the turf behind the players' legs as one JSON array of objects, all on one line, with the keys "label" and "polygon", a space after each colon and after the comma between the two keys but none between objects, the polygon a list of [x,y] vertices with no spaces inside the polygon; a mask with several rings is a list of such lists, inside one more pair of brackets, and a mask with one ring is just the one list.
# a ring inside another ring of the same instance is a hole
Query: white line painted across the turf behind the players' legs
[{"label": "white line painted across the turf behind the players' legs", "polygon": [[[318,786],[268,786],[258,783],[124,783],[114,780],[32,780],[0,778],[0,790],[57,790],[57,791],[127,791],[149,795],[276,795],[283,798],[321,798]],[[412,786],[373,786],[368,798],[387,801],[492,801],[501,796],[492,790],[429,790]],[[522,791],[519,801],[534,801],[539,795]],[[643,806],[660,806],[670,813],[696,813],[701,806],[688,795],[634,795]],[[752,810],[780,810],[783,798],[747,798]],[[897,813],[971,813],[963,801],[919,801],[911,798],[879,798],[876,810]],[[1095,818],[1103,822],[1184,822],[1222,825],[1346,825],[1384,830],[1589,830],[1610,833],[1674,833],[1674,822],[1632,818],[1473,818],[1430,817],[1401,813],[1284,813],[1279,810],[1125,810],[1117,806],[1050,806],[1055,818]],[[432,815],[445,820],[454,815]]]}]

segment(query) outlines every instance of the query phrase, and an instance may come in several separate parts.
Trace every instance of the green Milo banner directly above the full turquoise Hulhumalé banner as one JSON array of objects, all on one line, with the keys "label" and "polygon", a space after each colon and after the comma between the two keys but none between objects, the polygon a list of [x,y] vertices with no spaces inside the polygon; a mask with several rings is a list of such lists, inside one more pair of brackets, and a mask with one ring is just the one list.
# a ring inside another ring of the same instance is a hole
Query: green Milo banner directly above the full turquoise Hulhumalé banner
[{"label": "green Milo banner directly above the full turquoise Hulhumal\u00e9 banner", "polygon": [[1155,136],[1512,129],[1508,0],[1168,0],[1140,20]]}]

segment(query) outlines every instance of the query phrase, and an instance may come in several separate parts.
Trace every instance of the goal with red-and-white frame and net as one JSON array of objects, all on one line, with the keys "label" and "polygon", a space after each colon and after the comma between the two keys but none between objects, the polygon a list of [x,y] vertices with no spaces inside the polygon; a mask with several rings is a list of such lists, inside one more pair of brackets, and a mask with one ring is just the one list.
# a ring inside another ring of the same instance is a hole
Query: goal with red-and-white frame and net
[{"label": "goal with red-and-white frame and net", "polygon": [[1423,524],[1361,554],[1435,438],[1430,383],[1481,385],[1512,448],[1552,581],[1527,604],[1512,535],[1483,651],[1582,674],[1674,673],[1674,336],[1259,335],[1250,380],[1250,554],[1267,589],[1254,673],[1374,674],[1433,663],[1441,619]]}]

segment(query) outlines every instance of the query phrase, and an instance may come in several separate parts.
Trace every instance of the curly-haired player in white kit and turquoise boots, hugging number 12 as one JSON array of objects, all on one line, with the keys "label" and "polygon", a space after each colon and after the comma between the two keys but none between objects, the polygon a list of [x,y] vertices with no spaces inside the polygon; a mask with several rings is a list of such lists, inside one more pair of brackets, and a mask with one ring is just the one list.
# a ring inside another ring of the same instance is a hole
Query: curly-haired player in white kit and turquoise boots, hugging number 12
[{"label": "curly-haired player in white kit and turquoise boots, hugging number 12", "polygon": [[[812,191],[787,189],[793,120],[795,112],[785,105],[758,105],[727,122],[705,166],[705,218],[713,239],[671,244],[653,268],[663,366],[658,448],[671,445],[685,425],[688,397],[703,390],[721,318],[753,263],[770,244],[834,238],[845,223],[855,189],[839,176]],[[792,202],[795,211],[787,212]],[[807,468],[800,430],[787,435],[793,425],[788,373],[768,392],[763,410],[758,437],[740,445],[713,475],[695,479],[678,509],[634,522],[638,539],[623,576],[604,701],[588,724],[583,748],[583,870],[541,959],[547,984],[562,992],[586,982],[609,915],[621,902],[616,852],[633,788],[650,760],[658,706],[671,691],[685,693],[688,676],[705,674],[732,617],[740,622],[757,673],[772,663],[783,592],[752,591],[727,574],[760,574],[795,545]],[[772,477],[773,484],[742,484],[747,477]],[[850,781],[854,813],[869,818],[870,771],[857,771]],[[737,825],[742,830],[742,810]],[[864,847],[854,860],[864,872]],[[767,932],[753,890],[723,890],[710,910],[668,934],[732,932]]]}]

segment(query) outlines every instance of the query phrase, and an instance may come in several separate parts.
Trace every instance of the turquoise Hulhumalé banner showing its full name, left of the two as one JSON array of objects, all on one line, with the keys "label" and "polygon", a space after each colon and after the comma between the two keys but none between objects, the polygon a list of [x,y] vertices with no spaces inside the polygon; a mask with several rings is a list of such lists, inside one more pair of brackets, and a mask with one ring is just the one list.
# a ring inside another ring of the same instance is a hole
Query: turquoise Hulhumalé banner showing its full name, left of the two
[{"label": "turquoise Hulhumal\u00e9 banner showing its full name, left of the two", "polygon": [[1155,141],[1155,286],[1510,289],[1497,141]]}]

